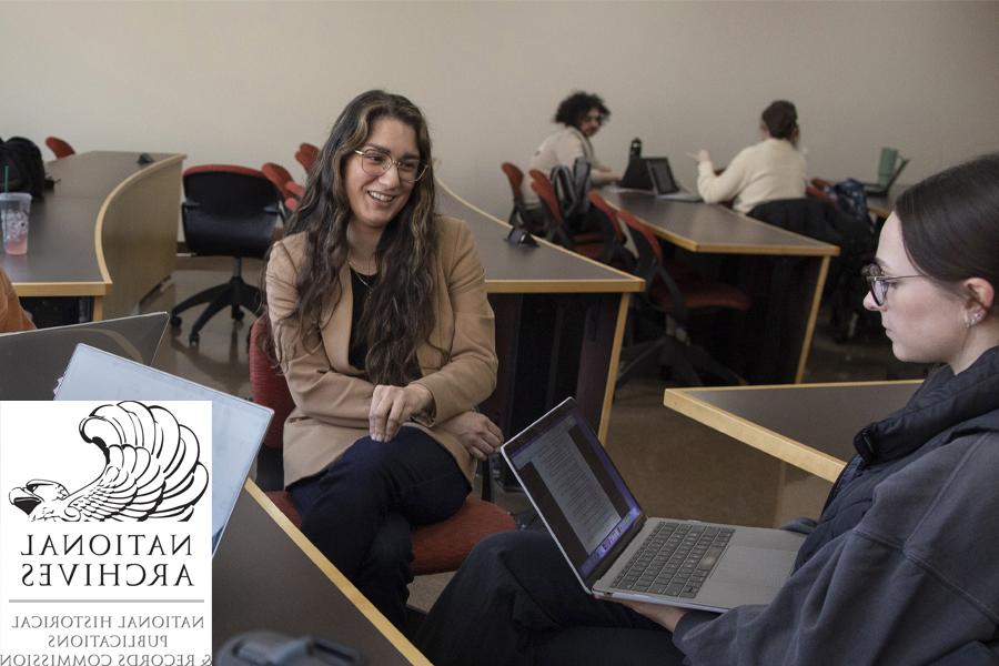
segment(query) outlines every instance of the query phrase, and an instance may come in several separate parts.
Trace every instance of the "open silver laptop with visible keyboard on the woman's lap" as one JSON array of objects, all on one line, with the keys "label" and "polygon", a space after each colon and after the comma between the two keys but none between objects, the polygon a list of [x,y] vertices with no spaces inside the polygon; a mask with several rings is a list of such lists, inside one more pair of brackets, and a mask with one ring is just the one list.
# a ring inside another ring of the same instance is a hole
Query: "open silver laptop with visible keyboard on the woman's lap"
[{"label": "open silver laptop with visible keyboard on the woman's lap", "polygon": [[587,593],[724,612],[767,604],[800,534],[645,515],[569,397],[501,448]]}]

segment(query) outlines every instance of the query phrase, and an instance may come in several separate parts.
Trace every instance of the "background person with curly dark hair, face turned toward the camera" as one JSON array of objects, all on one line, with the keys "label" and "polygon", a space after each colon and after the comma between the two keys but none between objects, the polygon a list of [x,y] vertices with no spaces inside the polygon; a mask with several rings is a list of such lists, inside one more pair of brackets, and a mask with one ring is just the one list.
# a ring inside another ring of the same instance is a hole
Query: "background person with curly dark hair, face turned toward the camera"
[{"label": "background person with curly dark hair, face turned toward the camera", "polygon": [[[534,151],[534,155],[531,157],[527,169],[537,169],[547,175],[559,164],[572,169],[576,159],[583,158],[592,167],[593,184],[603,185],[619,180],[619,174],[597,160],[593,144],[589,142],[609,117],[610,111],[599,95],[574,92],[559,102],[553,119],[554,122],[562,123],[562,129],[542,141],[542,144]],[[529,178],[524,179],[522,189],[524,205],[531,210],[537,210],[541,201],[531,189]]]}]

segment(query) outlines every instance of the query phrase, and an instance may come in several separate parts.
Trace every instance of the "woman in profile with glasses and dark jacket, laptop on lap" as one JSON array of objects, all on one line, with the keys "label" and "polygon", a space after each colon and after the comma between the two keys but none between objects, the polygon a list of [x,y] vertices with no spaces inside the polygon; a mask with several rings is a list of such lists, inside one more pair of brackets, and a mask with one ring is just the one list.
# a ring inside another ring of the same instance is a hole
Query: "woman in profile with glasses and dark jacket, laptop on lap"
[{"label": "woman in profile with glasses and dark jacket, laptop on lap", "polygon": [[598,601],[547,534],[516,532],[475,548],[417,645],[441,666],[996,664],[997,248],[999,154],[899,199],[864,304],[898,359],[940,365],[857,434],[773,602],[718,615]]}]

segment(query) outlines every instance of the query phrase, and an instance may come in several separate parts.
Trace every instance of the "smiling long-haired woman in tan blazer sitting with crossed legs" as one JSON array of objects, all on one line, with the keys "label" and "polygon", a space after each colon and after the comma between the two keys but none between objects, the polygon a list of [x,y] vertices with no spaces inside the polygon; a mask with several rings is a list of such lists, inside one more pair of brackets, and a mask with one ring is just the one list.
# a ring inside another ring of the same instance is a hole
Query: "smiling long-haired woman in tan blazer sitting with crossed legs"
[{"label": "smiling long-haired woman in tan blazer sitting with crossed legs", "polygon": [[412,102],[370,91],[344,109],[271,250],[266,302],[303,532],[398,625],[411,526],[454,514],[502,443],[474,411],[497,365],[482,264],[464,222],[435,212]]}]

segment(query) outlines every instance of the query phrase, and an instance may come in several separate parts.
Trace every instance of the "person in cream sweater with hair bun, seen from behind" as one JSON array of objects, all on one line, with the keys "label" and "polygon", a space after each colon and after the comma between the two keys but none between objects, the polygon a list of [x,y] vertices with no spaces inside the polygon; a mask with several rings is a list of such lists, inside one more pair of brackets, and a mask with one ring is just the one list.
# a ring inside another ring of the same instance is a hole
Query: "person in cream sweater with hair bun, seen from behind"
[{"label": "person in cream sweater with hair bun, seen from behind", "polygon": [[776,199],[805,196],[805,158],[798,151],[798,112],[786,100],[767,107],[759,122],[763,140],[743,149],[720,174],[708,151],[697,160],[697,191],[708,203],[735,200],[733,208],[748,213],[757,204]]}]

